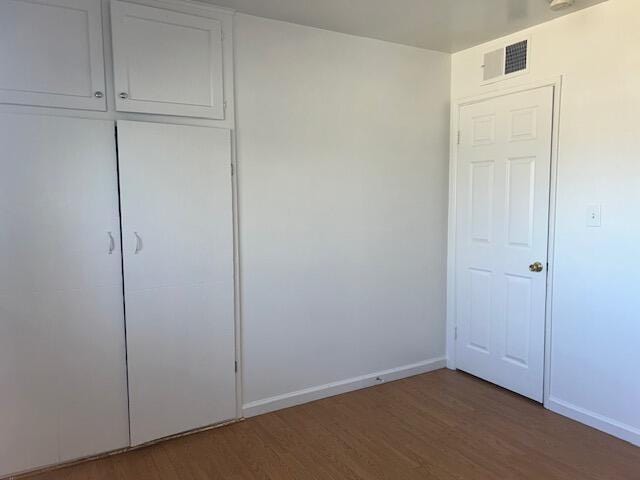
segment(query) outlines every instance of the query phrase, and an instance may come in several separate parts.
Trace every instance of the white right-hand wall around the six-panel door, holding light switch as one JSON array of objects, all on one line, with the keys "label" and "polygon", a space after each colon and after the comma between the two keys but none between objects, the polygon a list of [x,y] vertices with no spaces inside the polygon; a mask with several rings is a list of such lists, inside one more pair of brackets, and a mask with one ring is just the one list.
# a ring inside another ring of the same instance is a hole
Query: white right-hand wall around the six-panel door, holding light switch
[{"label": "white right-hand wall around the six-panel door, holding light switch", "polygon": [[[610,0],[532,28],[531,73],[563,75],[549,406],[640,444],[640,2]],[[453,55],[452,98],[482,54]],[[586,208],[602,205],[602,228]]]}]

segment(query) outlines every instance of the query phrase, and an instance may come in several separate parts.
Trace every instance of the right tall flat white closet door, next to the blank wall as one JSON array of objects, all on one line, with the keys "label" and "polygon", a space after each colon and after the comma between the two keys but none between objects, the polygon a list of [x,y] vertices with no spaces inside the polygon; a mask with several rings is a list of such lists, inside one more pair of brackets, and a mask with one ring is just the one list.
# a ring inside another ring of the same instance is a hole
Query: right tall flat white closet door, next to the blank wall
[{"label": "right tall flat white closet door, next to the blank wall", "polygon": [[134,445],[236,416],[230,137],[118,122]]}]

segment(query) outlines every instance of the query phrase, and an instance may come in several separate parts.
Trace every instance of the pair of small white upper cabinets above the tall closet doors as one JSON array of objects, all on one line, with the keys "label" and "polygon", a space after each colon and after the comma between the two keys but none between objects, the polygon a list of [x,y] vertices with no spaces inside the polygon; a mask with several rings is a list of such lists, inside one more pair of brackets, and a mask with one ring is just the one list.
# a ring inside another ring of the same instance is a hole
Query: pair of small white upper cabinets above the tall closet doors
[{"label": "pair of small white upper cabinets above the tall closet doors", "polygon": [[0,0],[0,104],[115,107],[231,127],[232,30],[231,10],[182,0]]}]

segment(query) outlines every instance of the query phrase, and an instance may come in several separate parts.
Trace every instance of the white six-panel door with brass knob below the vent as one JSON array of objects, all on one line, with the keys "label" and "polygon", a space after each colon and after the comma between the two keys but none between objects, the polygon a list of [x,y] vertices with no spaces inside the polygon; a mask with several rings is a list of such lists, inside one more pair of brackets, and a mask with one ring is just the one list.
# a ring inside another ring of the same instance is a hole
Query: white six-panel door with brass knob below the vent
[{"label": "white six-panel door with brass knob below the vent", "polygon": [[553,87],[463,106],[456,364],[542,401]]}]

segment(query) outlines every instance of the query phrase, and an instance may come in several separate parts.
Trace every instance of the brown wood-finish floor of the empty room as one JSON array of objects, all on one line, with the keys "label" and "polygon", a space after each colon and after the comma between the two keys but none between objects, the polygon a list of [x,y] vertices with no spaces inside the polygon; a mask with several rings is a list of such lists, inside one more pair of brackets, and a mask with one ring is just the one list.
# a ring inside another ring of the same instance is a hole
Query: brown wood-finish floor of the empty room
[{"label": "brown wood-finish floor of the empty room", "polygon": [[638,480],[640,448],[448,370],[30,480]]}]

